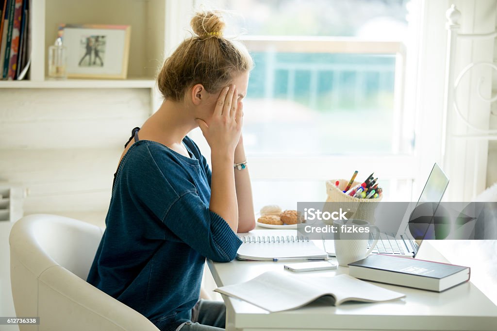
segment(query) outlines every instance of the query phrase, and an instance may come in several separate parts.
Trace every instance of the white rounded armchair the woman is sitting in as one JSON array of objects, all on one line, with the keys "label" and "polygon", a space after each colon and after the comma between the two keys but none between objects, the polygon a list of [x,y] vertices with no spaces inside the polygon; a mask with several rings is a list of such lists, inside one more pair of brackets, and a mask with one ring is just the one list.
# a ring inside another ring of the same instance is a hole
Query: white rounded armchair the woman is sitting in
[{"label": "white rounded armchair the woman is sitting in", "polygon": [[46,214],[10,231],[10,279],[17,317],[40,317],[20,331],[158,331],[146,317],[86,282],[103,230]]}]

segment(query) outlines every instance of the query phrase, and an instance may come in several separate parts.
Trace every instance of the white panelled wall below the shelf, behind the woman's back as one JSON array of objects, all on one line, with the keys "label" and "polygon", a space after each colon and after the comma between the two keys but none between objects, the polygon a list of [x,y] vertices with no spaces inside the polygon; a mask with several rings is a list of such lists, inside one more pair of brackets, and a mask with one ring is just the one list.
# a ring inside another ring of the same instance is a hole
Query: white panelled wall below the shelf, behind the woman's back
[{"label": "white panelled wall below the shelf, behind the woman's back", "polygon": [[0,103],[0,181],[26,188],[25,214],[106,211],[150,89],[1,89]]}]

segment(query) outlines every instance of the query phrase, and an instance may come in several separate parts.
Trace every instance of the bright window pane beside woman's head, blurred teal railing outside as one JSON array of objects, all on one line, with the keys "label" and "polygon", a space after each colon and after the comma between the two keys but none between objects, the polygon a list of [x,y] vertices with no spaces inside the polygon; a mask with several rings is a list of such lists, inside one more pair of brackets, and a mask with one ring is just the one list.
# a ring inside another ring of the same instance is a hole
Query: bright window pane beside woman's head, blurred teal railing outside
[{"label": "bright window pane beside woman's head, blurred teal railing outside", "polygon": [[[292,52],[294,42],[305,52]],[[248,153],[400,152],[393,139],[396,55],[389,54],[400,52],[400,43],[281,37],[245,43],[255,61],[244,108]],[[345,43],[363,53],[328,52]],[[386,54],[367,54],[370,47]]]}]

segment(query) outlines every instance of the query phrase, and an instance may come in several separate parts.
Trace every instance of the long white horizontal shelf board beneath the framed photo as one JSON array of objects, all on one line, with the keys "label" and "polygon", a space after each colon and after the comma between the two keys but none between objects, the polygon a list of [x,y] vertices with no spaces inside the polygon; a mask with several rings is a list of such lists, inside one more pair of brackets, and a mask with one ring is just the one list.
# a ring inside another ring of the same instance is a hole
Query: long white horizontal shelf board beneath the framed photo
[{"label": "long white horizontal shelf board beneath the framed photo", "polygon": [[155,81],[149,78],[128,80],[46,80],[0,81],[0,88],[153,88]]}]

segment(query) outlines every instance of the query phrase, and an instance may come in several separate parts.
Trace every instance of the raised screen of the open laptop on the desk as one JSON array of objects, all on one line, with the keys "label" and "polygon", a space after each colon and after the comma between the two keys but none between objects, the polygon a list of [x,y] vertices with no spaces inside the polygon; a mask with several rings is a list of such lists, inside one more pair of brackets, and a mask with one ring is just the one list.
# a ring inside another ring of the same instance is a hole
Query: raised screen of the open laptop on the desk
[{"label": "raised screen of the open laptop on the desk", "polygon": [[[405,226],[404,240],[422,241],[435,238],[433,217],[448,184],[449,178],[435,163]],[[421,242],[418,245],[420,244]],[[411,246],[416,247],[416,245]],[[416,252],[417,249],[414,251],[414,256]]]}]

